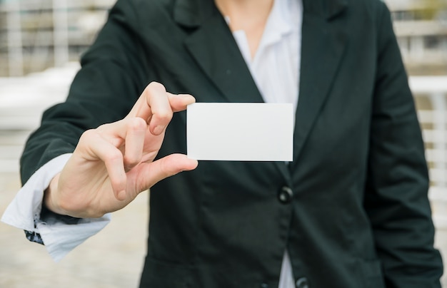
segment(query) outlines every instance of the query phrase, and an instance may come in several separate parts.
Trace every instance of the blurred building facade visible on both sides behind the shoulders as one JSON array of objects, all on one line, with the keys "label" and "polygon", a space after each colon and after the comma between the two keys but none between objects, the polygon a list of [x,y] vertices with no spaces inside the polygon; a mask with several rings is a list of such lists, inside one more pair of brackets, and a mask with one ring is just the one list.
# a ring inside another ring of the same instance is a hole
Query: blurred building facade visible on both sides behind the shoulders
[{"label": "blurred building facade visible on both sides behind the shoulders", "polygon": [[[0,76],[77,61],[116,0],[0,0]],[[447,0],[386,0],[412,75],[447,75]]]}]

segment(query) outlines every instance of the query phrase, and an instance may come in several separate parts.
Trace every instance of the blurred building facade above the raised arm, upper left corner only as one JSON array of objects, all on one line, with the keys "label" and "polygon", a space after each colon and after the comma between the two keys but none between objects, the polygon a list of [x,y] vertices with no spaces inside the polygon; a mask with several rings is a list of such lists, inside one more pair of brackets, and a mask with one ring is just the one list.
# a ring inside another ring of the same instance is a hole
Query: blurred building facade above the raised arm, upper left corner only
[{"label": "blurred building facade above the raised arm, upper left corner only", "polygon": [[116,0],[0,0],[0,76],[77,61]]}]

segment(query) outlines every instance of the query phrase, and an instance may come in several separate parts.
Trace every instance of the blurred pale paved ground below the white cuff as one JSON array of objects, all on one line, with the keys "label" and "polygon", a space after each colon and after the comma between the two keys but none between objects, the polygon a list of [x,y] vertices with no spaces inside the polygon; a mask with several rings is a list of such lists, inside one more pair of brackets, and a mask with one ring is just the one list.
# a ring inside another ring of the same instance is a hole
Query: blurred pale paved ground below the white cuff
[{"label": "blurred pale paved ground below the white cuff", "polygon": [[[16,173],[0,174],[0,214],[18,187]],[[0,223],[0,287],[137,287],[146,251],[146,202],[147,194],[141,194],[116,212],[108,227],[57,264],[21,230]],[[447,259],[447,227],[438,229],[436,245]],[[447,277],[443,284],[447,287]]]}]

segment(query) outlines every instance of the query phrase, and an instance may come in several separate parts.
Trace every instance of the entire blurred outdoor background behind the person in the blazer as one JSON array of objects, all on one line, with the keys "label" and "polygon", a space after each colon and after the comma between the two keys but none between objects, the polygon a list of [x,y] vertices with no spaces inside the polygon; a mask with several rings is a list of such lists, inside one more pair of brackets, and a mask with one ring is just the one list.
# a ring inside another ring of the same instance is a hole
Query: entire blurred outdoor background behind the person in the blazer
[{"label": "entire blurred outdoor background behind the person in the blazer", "polygon": [[[0,215],[20,187],[26,138],[45,108],[64,101],[79,56],[114,2],[0,0]],[[435,244],[447,262],[447,0],[386,3],[426,142]],[[24,232],[0,223],[0,287],[136,287],[146,251],[147,196],[114,213],[105,230],[58,264]]]}]

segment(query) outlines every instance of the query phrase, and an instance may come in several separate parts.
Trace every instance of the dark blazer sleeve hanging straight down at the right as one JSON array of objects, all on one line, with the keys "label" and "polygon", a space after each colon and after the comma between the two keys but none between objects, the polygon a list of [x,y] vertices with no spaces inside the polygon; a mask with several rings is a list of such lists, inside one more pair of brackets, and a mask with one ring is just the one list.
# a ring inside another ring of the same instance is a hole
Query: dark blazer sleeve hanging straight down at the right
[{"label": "dark blazer sleeve hanging straight down at the right", "polygon": [[428,170],[413,96],[381,3],[368,179],[364,205],[387,287],[441,287],[441,256],[433,248]]}]

